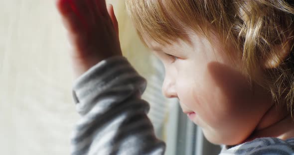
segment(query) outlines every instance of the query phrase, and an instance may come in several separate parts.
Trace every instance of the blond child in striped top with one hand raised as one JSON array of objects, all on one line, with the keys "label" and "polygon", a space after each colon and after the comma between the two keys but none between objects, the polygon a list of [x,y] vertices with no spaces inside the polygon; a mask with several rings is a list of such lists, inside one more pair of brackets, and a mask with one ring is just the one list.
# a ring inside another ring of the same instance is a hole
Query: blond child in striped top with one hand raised
[{"label": "blond child in striped top with one hand raised", "polygon": [[[144,43],[163,62],[166,97],[220,155],[294,154],[294,2],[126,0]],[[82,119],[73,155],[163,155],[140,98],[146,80],[122,56],[105,0],[58,0],[78,77]],[[144,59],[144,58],[138,58]]]}]

